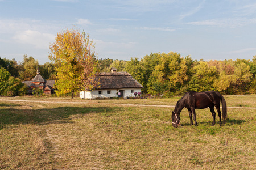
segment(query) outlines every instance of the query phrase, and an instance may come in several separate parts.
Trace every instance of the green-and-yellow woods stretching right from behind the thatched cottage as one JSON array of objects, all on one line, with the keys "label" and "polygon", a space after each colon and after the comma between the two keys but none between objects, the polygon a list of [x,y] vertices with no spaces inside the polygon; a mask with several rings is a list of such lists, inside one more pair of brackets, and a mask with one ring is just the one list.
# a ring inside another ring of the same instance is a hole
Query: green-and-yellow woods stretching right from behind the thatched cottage
[{"label": "green-and-yellow woods stretching right from behind the thatched cottage", "polygon": [[193,60],[177,52],[151,53],[130,61],[99,59],[98,70],[127,71],[144,87],[144,95],[166,97],[187,91],[218,91],[224,95],[256,93],[256,56],[224,61]]}]

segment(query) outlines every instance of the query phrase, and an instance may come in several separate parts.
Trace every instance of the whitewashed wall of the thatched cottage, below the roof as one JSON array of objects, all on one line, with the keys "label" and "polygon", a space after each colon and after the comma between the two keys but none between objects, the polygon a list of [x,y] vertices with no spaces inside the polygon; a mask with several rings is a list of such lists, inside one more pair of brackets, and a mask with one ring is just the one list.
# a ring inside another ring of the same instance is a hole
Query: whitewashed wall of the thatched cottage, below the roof
[{"label": "whitewashed wall of the thatched cottage, below the roof", "polygon": [[[126,99],[127,97],[135,97],[134,92],[141,92],[141,88],[120,88],[120,89],[106,89],[106,90],[93,90],[93,91],[80,91],[81,99],[96,99],[96,98],[110,98],[110,97],[118,97],[117,91],[123,90],[123,97]],[[131,93],[131,90],[134,92]],[[98,91],[101,91],[101,94],[98,94]],[[110,91],[110,94],[107,94],[107,91]],[[137,95],[138,96],[138,95]]]}]

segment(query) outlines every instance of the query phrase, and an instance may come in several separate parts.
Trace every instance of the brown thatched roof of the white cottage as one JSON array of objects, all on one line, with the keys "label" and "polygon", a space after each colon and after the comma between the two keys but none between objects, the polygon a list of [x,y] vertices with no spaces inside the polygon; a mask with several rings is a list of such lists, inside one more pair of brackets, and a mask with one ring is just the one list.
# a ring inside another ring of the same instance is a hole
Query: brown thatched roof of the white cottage
[{"label": "brown thatched roof of the white cottage", "polygon": [[143,88],[143,86],[127,72],[104,72],[97,73],[96,76],[100,81],[100,88],[98,89]]}]

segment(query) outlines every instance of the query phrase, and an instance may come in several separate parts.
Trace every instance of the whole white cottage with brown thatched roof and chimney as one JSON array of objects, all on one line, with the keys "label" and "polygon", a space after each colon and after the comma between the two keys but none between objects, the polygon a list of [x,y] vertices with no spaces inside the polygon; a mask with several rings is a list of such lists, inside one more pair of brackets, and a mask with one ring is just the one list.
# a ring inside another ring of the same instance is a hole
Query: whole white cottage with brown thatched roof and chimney
[{"label": "whole white cottage with brown thatched roof and chimney", "polygon": [[111,73],[97,73],[96,78],[100,81],[100,88],[92,91],[81,91],[81,99],[96,99],[118,97],[135,97],[134,92],[141,92],[143,86],[127,72],[117,72],[111,68]]}]

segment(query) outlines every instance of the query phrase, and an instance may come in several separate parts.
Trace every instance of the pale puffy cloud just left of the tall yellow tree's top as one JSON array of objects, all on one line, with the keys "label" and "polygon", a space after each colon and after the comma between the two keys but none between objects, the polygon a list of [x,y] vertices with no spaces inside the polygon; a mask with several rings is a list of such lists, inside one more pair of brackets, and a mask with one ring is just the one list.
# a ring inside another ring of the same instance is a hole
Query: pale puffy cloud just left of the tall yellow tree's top
[{"label": "pale puffy cloud just left of the tall yellow tree's top", "polygon": [[55,35],[26,30],[17,32],[13,39],[21,44],[34,45],[38,49],[48,49],[50,43],[55,40]]}]

